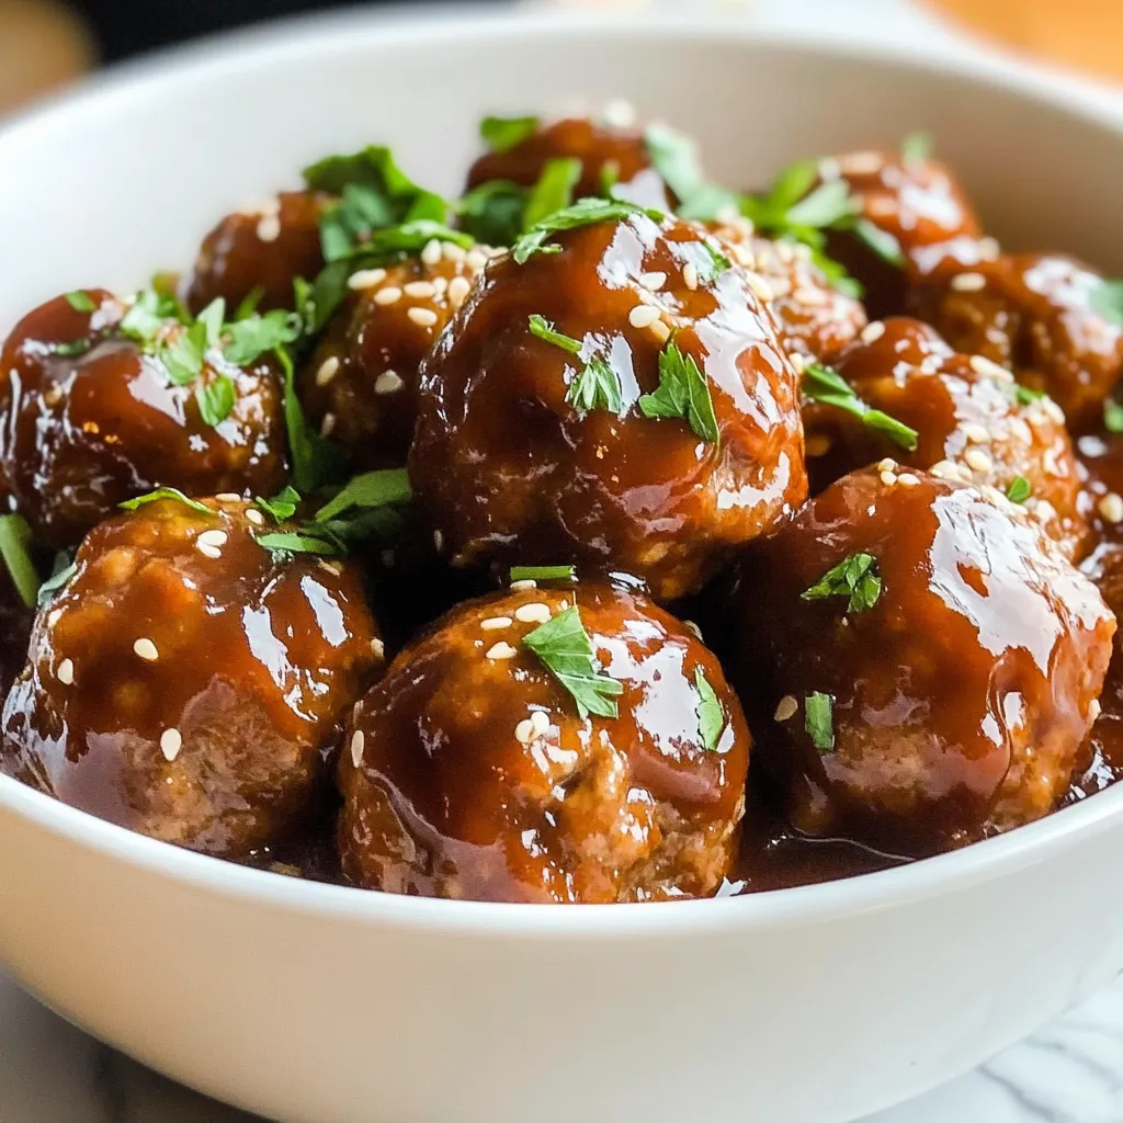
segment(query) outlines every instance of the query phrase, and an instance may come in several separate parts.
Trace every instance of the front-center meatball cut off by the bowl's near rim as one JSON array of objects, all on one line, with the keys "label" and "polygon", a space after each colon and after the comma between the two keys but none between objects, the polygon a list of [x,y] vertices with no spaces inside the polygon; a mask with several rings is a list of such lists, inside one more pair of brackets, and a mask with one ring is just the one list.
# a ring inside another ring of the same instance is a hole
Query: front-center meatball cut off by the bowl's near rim
[{"label": "front-center meatball cut off by the bowl's near rim", "polygon": [[[482,901],[712,894],[736,850],[750,743],[721,666],[636,592],[527,584],[462,604],[355,707],[339,764],[345,874]],[[615,684],[602,697],[617,716],[581,712],[531,649],[541,629],[574,627],[588,674]]]}]

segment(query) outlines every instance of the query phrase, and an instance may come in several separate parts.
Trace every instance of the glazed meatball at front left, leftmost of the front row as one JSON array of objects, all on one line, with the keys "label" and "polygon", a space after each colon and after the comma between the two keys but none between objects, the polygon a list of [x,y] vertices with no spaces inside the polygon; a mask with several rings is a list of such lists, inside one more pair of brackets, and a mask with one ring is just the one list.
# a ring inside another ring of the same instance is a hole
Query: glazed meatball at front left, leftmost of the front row
[{"label": "glazed meatball at front left, leftmost of the front row", "polygon": [[271,553],[263,522],[234,497],[165,499],[91,531],[36,619],[3,710],[3,770],[219,857],[312,814],[382,641],[360,576]]}]

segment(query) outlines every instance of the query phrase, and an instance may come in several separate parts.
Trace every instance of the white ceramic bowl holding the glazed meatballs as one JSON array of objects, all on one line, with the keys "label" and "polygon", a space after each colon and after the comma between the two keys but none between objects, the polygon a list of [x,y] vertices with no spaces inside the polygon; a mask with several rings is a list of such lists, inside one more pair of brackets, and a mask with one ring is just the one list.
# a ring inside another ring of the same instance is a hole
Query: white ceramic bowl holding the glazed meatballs
[{"label": "white ceramic bowl holding the glazed meatballs", "polygon": [[[714,174],[931,128],[994,232],[1123,266],[1123,131],[1016,67],[587,16],[232,38],[0,134],[0,323],[185,263],[304,161],[392,143],[455,188],[485,111],[623,95]],[[546,907],[302,884],[0,778],[0,959],[211,1095],[309,1123],[831,1123],[944,1080],[1123,967],[1123,786],[906,869],[740,900]]]}]

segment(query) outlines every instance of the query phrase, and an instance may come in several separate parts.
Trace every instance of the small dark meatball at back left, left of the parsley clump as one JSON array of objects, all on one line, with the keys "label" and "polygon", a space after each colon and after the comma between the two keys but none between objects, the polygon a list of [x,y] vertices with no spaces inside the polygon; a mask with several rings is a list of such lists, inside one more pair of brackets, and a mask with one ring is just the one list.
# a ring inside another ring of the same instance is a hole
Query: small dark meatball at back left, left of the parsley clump
[{"label": "small dark meatball at back left, left of the parsley clump", "polygon": [[184,303],[198,313],[222,296],[237,308],[257,290],[262,311],[292,308],[293,281],[323,268],[320,217],[329,202],[322,192],[287,191],[228,214],[207,235],[183,280]]}]

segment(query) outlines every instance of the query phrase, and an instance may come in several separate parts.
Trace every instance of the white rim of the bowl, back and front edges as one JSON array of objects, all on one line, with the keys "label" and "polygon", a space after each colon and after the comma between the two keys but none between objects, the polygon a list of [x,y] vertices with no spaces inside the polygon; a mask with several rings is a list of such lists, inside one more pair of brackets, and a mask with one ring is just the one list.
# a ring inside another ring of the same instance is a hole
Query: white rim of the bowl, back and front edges
[{"label": "white rim of the bowl, back and front edges", "polygon": [[[438,18],[439,17],[439,18]],[[309,54],[353,53],[364,46],[439,38],[509,42],[557,33],[596,33],[637,40],[674,36],[684,49],[694,44],[736,40],[746,47],[791,52],[822,60],[868,62],[902,73],[924,71],[968,85],[1004,91],[1069,116],[1106,126],[1123,140],[1123,99],[1113,104],[1094,88],[1050,76],[1001,55],[961,57],[933,54],[912,44],[838,42],[809,29],[760,29],[729,13],[593,12],[523,9],[494,4],[467,8],[407,4],[372,12],[344,9],[277,20],[206,37],[116,67],[55,95],[0,127],[0,157],[44,128],[69,118],[103,119],[122,101],[175,81],[220,80],[225,74],[268,69]],[[140,874],[157,874],[229,901],[359,925],[390,926],[430,934],[486,934],[491,938],[675,939],[747,930],[834,923],[875,910],[938,898],[1039,865],[1062,850],[1123,822],[1123,783],[1065,807],[1038,822],[960,850],[892,869],[834,882],[751,893],[739,897],[683,901],[660,906],[612,907],[446,901],[358,889],[284,877],[194,853],[137,834],[0,775],[0,812],[101,858]]]}]

